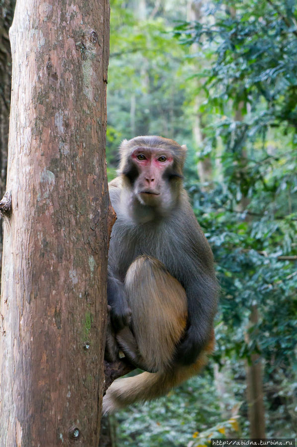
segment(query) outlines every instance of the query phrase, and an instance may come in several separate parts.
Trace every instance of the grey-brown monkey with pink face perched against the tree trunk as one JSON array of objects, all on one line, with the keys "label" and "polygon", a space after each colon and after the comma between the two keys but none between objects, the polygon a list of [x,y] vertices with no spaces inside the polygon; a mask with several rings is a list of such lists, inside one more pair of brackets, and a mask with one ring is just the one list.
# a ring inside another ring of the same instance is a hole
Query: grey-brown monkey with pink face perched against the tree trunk
[{"label": "grey-brown monkey with pink face perched against the tree trunk", "polygon": [[183,187],[186,151],[159,136],[120,146],[119,175],[109,183],[117,220],[107,300],[119,349],[145,372],[115,380],[103,414],[166,394],[214,350],[219,288],[212,250]]}]

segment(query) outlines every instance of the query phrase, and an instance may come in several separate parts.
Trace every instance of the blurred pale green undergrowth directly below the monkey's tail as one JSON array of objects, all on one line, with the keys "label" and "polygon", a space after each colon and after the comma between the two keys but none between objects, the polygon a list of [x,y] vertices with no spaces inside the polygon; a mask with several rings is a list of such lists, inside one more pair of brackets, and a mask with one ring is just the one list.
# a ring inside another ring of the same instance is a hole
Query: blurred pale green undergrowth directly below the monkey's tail
[{"label": "blurred pale green undergrowth directly below the monkey's tail", "polygon": [[[118,433],[121,446],[194,447],[210,444],[212,437],[238,433],[236,417],[218,418],[218,395],[212,382],[213,377],[205,374],[181,385],[166,400],[134,405],[122,412]],[[202,390],[207,392],[200,398]]]}]

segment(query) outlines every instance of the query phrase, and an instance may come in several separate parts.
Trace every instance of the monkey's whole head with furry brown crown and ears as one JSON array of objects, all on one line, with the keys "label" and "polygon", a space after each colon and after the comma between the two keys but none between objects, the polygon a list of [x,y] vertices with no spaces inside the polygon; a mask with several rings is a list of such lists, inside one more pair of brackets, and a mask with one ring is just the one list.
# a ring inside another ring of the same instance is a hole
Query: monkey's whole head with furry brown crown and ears
[{"label": "monkey's whole head with furry brown crown and ears", "polygon": [[174,206],[182,189],[186,146],[157,136],[124,140],[119,173],[142,205],[162,212]]}]

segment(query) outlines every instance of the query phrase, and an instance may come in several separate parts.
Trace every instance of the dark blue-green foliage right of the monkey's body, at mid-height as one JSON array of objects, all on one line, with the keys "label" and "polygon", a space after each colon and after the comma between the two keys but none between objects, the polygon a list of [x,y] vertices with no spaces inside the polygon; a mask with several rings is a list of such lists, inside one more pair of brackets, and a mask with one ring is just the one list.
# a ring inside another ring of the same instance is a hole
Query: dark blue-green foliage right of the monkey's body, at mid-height
[{"label": "dark blue-green foliage right of the monkey's body, at mid-height", "polygon": [[[236,207],[232,211],[233,196],[229,194],[227,200],[228,194],[220,195],[220,189],[218,185],[205,194],[197,185],[190,187],[198,220],[218,263],[222,286],[220,316],[226,326],[217,336],[220,356],[236,354],[245,358],[257,349],[267,359],[269,368],[278,368],[282,362],[285,366],[296,361],[297,273],[294,263],[282,260],[282,256],[296,254],[296,222],[291,215],[273,220],[265,213],[246,222],[246,212],[238,212]],[[258,200],[254,195],[249,207],[253,209],[254,204],[260,210],[263,201]],[[248,346],[244,332],[255,303],[261,319],[259,328],[250,330],[251,340],[253,336],[255,339]]]}]

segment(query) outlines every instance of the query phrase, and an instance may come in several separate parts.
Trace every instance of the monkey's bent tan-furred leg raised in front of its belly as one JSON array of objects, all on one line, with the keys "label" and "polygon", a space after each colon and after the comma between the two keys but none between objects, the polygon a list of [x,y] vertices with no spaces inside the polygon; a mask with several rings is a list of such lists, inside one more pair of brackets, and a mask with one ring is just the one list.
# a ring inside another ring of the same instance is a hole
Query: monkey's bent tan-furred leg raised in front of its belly
[{"label": "monkey's bent tan-furred leg raised in front of its belly", "polygon": [[132,310],[133,334],[128,335],[126,343],[125,334],[120,336],[121,348],[142,369],[163,370],[172,364],[185,330],[185,290],[161,262],[140,256],[127,271],[125,291]]}]

